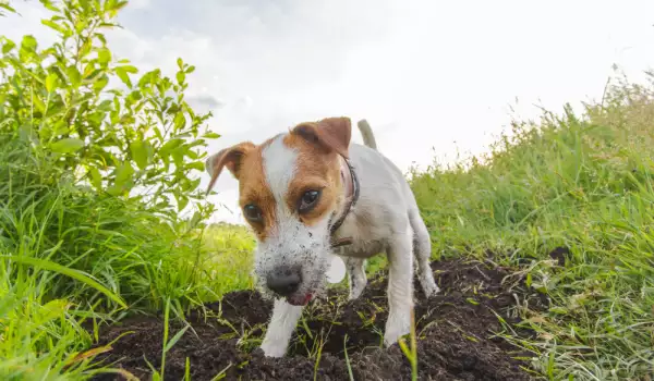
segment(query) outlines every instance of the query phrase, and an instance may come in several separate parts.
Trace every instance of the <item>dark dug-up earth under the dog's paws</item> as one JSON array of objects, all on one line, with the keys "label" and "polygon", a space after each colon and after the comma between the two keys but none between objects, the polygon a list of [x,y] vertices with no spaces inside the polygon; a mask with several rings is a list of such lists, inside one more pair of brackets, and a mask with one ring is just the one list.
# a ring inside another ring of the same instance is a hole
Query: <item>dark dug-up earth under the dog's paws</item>
[{"label": "dark dug-up earth under the dog's paws", "polygon": [[[433,262],[441,292],[428,300],[415,282],[419,380],[536,378],[529,370],[530,354],[500,335],[511,330],[523,337],[533,334],[516,327],[517,306],[542,309],[546,297],[529,290],[518,269],[487,262]],[[410,380],[411,365],[399,345],[382,344],[385,275],[371,278],[358,300],[347,302],[347,290],[335,288],[329,299],[312,302],[284,358],[266,358],[257,348],[271,304],[254,291],[227,294],[221,303],[190,314],[192,328],[166,354],[164,379],[184,380],[189,372],[191,380]],[[169,340],[184,325],[171,322]],[[96,347],[111,348],[96,360],[150,380],[150,366],[161,369],[162,340],[162,318],[131,318],[100,332]],[[95,378],[124,379],[116,373]]]}]

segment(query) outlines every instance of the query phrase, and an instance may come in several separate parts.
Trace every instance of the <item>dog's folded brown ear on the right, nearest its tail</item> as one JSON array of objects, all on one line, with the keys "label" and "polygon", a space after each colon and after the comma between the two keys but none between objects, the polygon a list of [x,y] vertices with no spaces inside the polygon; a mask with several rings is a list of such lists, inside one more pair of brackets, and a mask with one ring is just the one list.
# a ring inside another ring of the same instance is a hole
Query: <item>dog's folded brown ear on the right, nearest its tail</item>
[{"label": "dog's folded brown ear on the right, nearest its tail", "polygon": [[296,125],[292,134],[302,136],[310,143],[316,144],[327,151],[336,151],[348,158],[350,139],[352,138],[352,122],[350,118],[326,118],[318,122],[307,122]]}]

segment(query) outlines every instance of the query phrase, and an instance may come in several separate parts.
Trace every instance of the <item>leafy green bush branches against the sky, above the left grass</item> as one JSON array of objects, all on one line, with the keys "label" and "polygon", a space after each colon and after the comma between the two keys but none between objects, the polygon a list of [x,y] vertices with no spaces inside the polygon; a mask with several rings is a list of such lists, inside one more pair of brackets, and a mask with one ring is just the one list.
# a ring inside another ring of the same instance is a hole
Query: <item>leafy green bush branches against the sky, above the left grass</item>
[{"label": "leafy green bush branches against the sky, above the left grass", "polygon": [[129,60],[117,60],[104,30],[114,27],[126,1],[41,4],[51,12],[41,24],[57,32],[53,45],[39,48],[24,36],[16,49],[0,37],[0,116],[12,121],[0,133],[34,136],[38,150],[97,192],[171,216],[197,207],[206,146],[220,135],[205,126],[210,113],[184,100],[195,66],[180,58],[171,77],[159,69],[140,75]]}]

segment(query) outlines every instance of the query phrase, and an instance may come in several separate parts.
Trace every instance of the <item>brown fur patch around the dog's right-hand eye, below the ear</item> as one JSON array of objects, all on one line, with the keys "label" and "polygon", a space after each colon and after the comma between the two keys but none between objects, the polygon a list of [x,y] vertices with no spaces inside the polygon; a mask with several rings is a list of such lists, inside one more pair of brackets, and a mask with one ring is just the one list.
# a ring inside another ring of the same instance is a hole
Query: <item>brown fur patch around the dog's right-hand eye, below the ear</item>
[{"label": "brown fur patch around the dog's right-hand eye, below the ear", "polygon": [[305,213],[299,213],[302,223],[313,226],[342,204],[340,159],[336,152],[325,151],[300,134],[288,134],[283,144],[298,151],[295,175],[289,184],[286,198],[288,208],[296,212],[306,192],[320,192],[316,206]]}]

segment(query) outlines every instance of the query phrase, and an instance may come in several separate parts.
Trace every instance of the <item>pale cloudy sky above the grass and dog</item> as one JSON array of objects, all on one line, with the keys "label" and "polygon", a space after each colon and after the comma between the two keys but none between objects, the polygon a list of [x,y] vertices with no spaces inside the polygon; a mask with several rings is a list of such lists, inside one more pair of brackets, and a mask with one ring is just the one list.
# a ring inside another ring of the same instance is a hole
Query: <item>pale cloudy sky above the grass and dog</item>
[{"label": "pale cloudy sky above the grass and dog", "polygon": [[[53,40],[36,0],[0,35]],[[222,135],[209,153],[311,120],[365,118],[403,171],[484,152],[512,119],[601,99],[616,64],[654,67],[651,0],[131,0],[107,33],[142,72],[196,66],[187,99]],[[203,185],[208,174],[203,174]],[[243,223],[228,172],[211,221]]]}]

